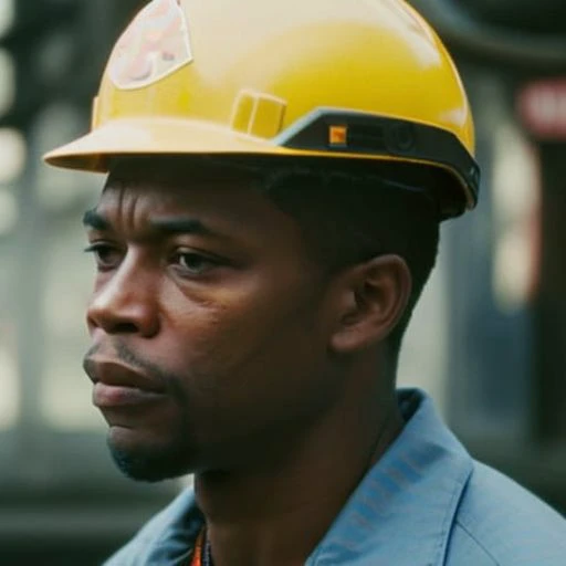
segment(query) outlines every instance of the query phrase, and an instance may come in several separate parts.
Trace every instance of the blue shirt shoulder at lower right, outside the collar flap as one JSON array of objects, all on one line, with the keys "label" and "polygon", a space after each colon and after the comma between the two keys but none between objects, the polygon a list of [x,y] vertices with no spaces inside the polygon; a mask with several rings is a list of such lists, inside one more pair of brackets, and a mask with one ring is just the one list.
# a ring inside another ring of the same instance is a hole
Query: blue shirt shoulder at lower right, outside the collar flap
[{"label": "blue shirt shoulder at lower right, outside the collar flap", "polygon": [[565,557],[566,520],[513,480],[474,462],[447,565],[562,566]]}]

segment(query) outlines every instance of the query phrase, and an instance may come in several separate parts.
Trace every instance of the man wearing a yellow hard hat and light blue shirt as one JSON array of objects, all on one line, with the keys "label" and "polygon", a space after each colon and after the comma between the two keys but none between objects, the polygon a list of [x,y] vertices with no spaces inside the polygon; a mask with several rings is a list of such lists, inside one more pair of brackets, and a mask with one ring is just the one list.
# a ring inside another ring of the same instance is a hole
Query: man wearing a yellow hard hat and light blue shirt
[{"label": "man wearing a yellow hard hat and light blue shirt", "polygon": [[125,474],[195,473],[109,565],[565,564],[565,523],[395,390],[439,222],[479,170],[460,78],[397,0],[154,0],[93,132],[84,367]]}]

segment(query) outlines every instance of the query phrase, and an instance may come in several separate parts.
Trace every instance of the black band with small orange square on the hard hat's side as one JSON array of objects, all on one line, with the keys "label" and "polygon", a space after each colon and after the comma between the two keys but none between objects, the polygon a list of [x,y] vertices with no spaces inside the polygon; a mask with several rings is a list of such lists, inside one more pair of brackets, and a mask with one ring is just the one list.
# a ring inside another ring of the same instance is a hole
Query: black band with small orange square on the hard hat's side
[{"label": "black band with small orange square on the hard hat's side", "polygon": [[375,154],[440,165],[460,178],[462,208],[471,209],[478,203],[480,167],[461,142],[446,129],[386,116],[318,108],[273,142],[292,149]]}]

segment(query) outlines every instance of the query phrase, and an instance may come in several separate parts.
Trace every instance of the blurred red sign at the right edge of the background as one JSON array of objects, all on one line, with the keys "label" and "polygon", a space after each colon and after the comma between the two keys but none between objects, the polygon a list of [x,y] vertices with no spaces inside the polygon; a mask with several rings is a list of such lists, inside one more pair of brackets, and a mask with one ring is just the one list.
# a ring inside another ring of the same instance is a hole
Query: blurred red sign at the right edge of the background
[{"label": "blurred red sign at the right edge of the background", "polygon": [[527,84],[518,93],[517,111],[536,137],[566,139],[566,77]]}]

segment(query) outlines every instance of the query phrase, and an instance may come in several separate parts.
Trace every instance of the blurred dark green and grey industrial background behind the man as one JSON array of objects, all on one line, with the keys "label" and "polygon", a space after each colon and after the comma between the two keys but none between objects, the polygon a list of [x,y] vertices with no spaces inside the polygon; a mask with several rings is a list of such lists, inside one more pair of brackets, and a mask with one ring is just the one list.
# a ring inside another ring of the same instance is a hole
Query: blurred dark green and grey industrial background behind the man
[{"label": "blurred dark green and grey industrial background behind the man", "polygon": [[[41,164],[84,133],[140,0],[0,0],[0,564],[101,564],[179,489],[114,469],[81,370],[103,177]],[[443,228],[400,382],[471,452],[566,512],[566,2],[413,0],[458,60],[478,210]]]}]

